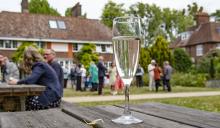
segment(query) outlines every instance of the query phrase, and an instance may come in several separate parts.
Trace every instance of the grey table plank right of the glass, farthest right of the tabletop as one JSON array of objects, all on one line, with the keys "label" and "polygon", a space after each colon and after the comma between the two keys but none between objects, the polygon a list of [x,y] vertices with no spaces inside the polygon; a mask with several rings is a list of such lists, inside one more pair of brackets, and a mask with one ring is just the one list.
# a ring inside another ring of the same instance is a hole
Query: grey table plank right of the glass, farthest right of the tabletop
[{"label": "grey table plank right of the glass, farthest right of the tabletop", "polygon": [[199,128],[220,128],[220,115],[216,113],[160,103],[131,105],[131,109],[147,115],[157,116],[159,118]]}]

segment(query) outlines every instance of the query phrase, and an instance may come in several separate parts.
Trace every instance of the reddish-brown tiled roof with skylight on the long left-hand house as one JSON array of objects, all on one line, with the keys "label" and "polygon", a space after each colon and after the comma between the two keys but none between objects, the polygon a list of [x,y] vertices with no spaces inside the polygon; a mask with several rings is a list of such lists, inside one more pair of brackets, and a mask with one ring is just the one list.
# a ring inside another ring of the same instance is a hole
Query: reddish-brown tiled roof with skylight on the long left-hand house
[{"label": "reddish-brown tiled roof with skylight on the long left-hand house", "polygon": [[[49,20],[64,21],[66,29],[50,28]],[[0,37],[111,41],[112,32],[99,20],[1,12]]]}]

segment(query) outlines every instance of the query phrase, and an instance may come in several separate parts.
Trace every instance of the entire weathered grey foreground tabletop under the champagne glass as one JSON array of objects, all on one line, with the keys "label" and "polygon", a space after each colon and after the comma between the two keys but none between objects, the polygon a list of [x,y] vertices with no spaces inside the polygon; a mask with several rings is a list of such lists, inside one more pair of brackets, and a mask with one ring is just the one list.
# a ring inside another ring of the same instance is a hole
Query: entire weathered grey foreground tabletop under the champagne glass
[{"label": "entire weathered grey foreground tabletop under the champagne glass", "polygon": [[123,106],[82,107],[62,103],[61,108],[0,113],[1,128],[91,128],[86,122],[98,121],[97,128],[220,128],[220,114],[161,103],[131,105],[140,124],[112,122],[123,113]]}]

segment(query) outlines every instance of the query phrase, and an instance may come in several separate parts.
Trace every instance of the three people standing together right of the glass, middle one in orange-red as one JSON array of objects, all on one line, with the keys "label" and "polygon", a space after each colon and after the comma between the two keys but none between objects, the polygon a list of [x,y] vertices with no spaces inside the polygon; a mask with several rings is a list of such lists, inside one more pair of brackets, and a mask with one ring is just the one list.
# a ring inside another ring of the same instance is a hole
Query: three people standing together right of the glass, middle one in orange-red
[{"label": "three people standing together right of the glass, middle one in orange-red", "polygon": [[163,90],[171,92],[170,79],[172,73],[172,67],[168,61],[165,61],[163,68],[161,68],[155,60],[151,60],[151,63],[148,65],[149,73],[149,90],[158,91],[159,86],[161,86],[160,81],[163,83]]}]

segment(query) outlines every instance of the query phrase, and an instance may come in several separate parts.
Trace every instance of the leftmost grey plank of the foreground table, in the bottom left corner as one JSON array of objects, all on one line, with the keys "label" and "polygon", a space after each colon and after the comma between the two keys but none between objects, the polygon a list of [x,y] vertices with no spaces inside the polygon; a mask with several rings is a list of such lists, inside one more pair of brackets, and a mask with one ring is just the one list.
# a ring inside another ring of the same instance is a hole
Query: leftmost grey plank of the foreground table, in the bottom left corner
[{"label": "leftmost grey plank of the foreground table, in the bottom left corner", "polygon": [[1,128],[90,128],[60,109],[0,113]]}]

